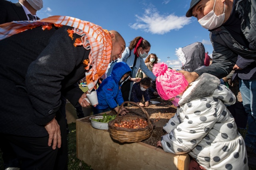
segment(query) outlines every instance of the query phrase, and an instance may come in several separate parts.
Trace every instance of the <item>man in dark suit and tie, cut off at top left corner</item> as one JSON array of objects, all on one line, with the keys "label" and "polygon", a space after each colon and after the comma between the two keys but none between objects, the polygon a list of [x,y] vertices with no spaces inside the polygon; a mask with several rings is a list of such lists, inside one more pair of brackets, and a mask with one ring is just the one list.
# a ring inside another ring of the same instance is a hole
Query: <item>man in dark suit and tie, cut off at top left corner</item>
[{"label": "man in dark suit and tie, cut off at top left corner", "polygon": [[39,20],[36,12],[42,8],[42,0],[19,0],[18,3],[0,0],[0,24],[12,21],[28,21],[30,20],[29,14],[32,15],[30,17],[34,18],[33,20]]}]

